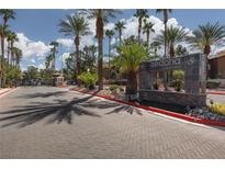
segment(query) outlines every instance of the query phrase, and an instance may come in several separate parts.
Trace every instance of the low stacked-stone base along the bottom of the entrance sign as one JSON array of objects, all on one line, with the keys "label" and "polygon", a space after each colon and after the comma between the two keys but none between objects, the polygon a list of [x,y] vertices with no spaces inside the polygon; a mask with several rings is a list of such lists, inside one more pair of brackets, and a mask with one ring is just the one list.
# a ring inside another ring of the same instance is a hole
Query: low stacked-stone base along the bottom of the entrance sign
[{"label": "low stacked-stone base along the bottom of the entrance sign", "polygon": [[139,90],[140,100],[179,105],[205,106],[206,94],[180,93],[158,90]]}]

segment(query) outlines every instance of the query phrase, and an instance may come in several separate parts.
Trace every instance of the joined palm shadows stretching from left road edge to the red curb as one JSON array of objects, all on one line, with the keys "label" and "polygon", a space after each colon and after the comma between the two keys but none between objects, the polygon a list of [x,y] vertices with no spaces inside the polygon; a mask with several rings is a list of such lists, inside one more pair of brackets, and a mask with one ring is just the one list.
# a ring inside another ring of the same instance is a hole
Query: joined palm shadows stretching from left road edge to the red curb
[{"label": "joined palm shadows stretching from left road edge to the red curb", "polygon": [[[87,110],[87,108],[89,110]],[[40,122],[46,117],[49,117],[47,124],[66,122],[71,124],[74,117],[88,115],[92,117],[102,117],[101,111],[94,113],[90,111],[97,108],[100,110],[112,109],[104,114],[127,112],[133,114],[136,112],[142,115],[138,109],[130,105],[119,104],[109,101],[99,101],[93,95],[85,97],[81,99],[74,98],[71,101],[67,100],[54,100],[54,102],[32,102],[30,105],[16,106],[15,110],[1,112],[0,114],[10,114],[0,119],[1,127],[16,125],[19,127],[25,127]]]}]

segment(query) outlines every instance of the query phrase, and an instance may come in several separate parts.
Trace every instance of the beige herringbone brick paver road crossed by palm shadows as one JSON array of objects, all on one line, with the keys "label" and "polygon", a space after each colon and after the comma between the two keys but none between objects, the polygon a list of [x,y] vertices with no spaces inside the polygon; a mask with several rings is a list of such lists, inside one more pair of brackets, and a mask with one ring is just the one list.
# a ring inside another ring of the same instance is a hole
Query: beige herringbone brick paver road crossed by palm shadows
[{"label": "beige herringbone brick paver road crossed by palm shadows", "polygon": [[225,158],[225,131],[26,87],[0,98],[0,158]]}]

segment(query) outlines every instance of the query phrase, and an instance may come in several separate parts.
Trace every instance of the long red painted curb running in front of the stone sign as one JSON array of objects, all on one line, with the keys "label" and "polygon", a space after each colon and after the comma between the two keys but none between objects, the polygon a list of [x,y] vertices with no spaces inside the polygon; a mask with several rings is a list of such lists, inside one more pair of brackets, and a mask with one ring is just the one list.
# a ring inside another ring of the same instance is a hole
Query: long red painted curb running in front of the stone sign
[{"label": "long red painted curb running in front of the stone sign", "polygon": [[153,112],[156,112],[156,113],[159,113],[159,114],[181,119],[181,120],[189,121],[189,122],[225,127],[225,123],[222,123],[222,122],[203,120],[203,119],[200,119],[200,117],[189,116],[189,115],[184,115],[184,114],[180,114],[180,113],[176,113],[176,112],[171,112],[171,111],[167,111],[167,110],[162,110],[162,109],[158,109],[158,108],[142,105],[142,104],[137,104],[137,103],[134,103],[134,102],[128,102],[128,101],[115,99],[115,98],[112,98],[112,97],[109,97],[109,95],[97,94],[94,92],[79,91],[79,90],[76,90],[76,89],[70,89],[70,90],[74,90],[74,91],[77,91],[77,92],[80,92],[80,93],[95,95],[95,97],[99,97],[99,98],[108,99],[108,100],[115,101],[115,102],[119,102],[119,103],[132,105],[132,106],[144,109],[144,110],[147,110],[147,111],[153,111]]}]

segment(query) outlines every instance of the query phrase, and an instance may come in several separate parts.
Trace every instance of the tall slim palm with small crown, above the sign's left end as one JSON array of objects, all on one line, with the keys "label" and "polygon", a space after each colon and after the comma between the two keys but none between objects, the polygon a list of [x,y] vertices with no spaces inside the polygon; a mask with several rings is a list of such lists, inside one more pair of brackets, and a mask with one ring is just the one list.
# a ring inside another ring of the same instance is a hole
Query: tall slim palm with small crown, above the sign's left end
[{"label": "tall slim palm with small crown, above the sign's left end", "polygon": [[148,18],[148,10],[136,10],[136,13],[134,16],[138,18],[138,35],[137,35],[137,41],[140,42],[140,32],[143,27],[143,19]]}]

